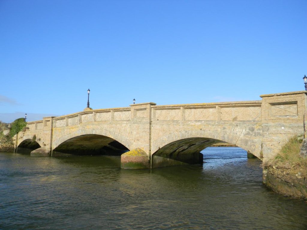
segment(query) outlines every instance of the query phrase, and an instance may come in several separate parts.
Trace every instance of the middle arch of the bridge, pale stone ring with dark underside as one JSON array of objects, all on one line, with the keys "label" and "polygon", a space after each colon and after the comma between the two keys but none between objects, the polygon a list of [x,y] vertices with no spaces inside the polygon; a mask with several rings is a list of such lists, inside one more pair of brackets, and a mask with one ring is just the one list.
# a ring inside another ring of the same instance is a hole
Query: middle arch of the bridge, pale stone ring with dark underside
[{"label": "middle arch of the bridge, pale stone ring with dark underside", "polygon": [[[55,139],[52,152],[82,154],[88,151],[93,154],[101,154],[105,150],[126,151],[130,149],[130,141],[120,134],[111,134],[107,130],[79,129],[67,135]],[[55,155],[55,154],[52,154]]]}]

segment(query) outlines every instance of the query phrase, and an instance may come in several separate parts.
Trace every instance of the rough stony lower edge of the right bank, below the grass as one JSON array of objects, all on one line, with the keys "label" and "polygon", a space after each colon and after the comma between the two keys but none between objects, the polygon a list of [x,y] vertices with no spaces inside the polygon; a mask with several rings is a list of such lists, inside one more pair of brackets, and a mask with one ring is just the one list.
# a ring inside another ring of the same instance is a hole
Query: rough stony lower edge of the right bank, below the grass
[{"label": "rough stony lower edge of the right bank, below the grass", "polygon": [[263,183],[278,193],[307,199],[307,178],[301,172],[290,174],[276,167],[267,167],[263,170]]}]

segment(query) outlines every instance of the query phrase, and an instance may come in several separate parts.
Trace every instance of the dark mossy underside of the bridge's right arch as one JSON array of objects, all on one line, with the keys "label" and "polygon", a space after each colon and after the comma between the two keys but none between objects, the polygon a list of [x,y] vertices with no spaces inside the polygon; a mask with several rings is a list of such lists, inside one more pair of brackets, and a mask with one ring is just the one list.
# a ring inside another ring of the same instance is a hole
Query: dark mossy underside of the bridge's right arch
[{"label": "dark mossy underside of the bridge's right arch", "polygon": [[152,155],[152,167],[166,167],[184,164],[203,163],[203,149],[220,140],[204,137],[185,138],[173,141],[158,149]]}]

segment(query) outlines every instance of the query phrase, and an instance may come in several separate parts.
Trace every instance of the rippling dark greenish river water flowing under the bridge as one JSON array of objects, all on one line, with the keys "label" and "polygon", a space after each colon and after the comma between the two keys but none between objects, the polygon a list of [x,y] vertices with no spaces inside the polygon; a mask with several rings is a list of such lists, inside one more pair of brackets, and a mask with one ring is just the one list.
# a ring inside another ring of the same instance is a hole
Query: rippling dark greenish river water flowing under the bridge
[{"label": "rippling dark greenish river water flowing under the bridge", "polygon": [[203,165],[120,169],[118,156],[0,153],[0,229],[307,229],[307,203],[262,184],[234,147]]}]

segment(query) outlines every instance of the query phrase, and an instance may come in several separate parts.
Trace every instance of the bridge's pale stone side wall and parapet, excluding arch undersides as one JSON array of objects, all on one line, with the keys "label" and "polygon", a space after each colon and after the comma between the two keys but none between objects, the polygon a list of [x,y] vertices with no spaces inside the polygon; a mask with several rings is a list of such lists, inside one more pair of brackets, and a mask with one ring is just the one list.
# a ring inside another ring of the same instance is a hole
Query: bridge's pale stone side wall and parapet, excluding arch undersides
[{"label": "bridge's pale stone side wall and parapet, excluding arch undersides", "polygon": [[[35,135],[37,143],[46,147],[44,151],[52,151],[74,137],[97,134],[112,138],[129,150],[141,148],[150,160],[169,144],[178,147],[182,140],[191,139],[183,146],[188,148],[197,143],[205,144],[197,139],[203,138],[208,139],[209,144],[216,140],[235,144],[266,161],[276,155],[291,136],[306,130],[306,92],[261,97],[260,101],[247,102],[185,105],[149,102],[125,108],[85,109],[28,122],[27,130],[16,136],[15,147]],[[197,150],[196,147],[191,149]],[[169,148],[168,151],[172,155],[177,150]],[[186,149],[184,151],[193,155]]]}]

